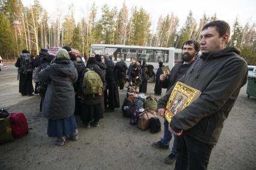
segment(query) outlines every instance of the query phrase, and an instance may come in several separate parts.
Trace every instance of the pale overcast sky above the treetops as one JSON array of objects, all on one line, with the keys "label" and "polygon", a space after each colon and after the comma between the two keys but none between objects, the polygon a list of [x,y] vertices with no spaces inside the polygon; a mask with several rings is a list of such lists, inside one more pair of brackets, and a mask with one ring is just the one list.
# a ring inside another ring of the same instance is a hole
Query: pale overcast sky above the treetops
[{"label": "pale overcast sky above the treetops", "polygon": [[[95,2],[97,6],[97,17],[101,15],[101,8],[103,4],[108,4],[110,8],[116,6],[118,10],[121,9],[124,0],[39,0],[40,4],[49,13],[50,19],[55,19],[56,11],[62,11],[61,14],[64,16],[69,10],[70,4],[75,6],[75,19],[78,22],[82,17],[87,17],[90,12],[90,7]],[[29,6],[34,0],[22,0],[23,5]],[[256,23],[256,1],[254,0],[127,0],[126,6],[130,9],[135,5],[140,8],[144,8],[150,13],[150,19],[153,28],[156,28],[157,20],[162,15],[165,17],[167,14],[173,13],[180,19],[179,25],[182,26],[186,20],[189,11],[192,10],[193,16],[197,19],[197,23],[200,22],[200,18],[204,13],[207,16],[213,16],[217,14],[218,19],[225,20],[232,26],[236,16],[239,17],[240,23],[245,25],[246,22]]]}]

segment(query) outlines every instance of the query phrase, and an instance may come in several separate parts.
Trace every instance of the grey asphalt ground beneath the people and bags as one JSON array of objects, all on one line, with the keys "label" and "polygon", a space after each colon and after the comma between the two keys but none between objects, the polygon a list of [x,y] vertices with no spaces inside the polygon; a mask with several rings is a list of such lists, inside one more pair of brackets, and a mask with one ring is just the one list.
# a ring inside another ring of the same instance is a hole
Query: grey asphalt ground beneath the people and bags
[{"label": "grey asphalt ground beneath the people and bags", "polygon": [[[18,89],[17,68],[10,64],[0,72],[0,107],[24,113],[29,133],[0,145],[0,169],[174,169],[163,163],[169,150],[151,146],[163,131],[153,135],[129,125],[120,108],[105,113],[99,128],[87,129],[76,117],[79,140],[67,141],[63,147],[53,145],[46,134],[47,120],[39,112],[40,97],[21,96]],[[148,94],[153,89],[154,83],[148,84]],[[120,92],[121,104],[125,95]],[[256,98],[248,99],[244,86],[213,148],[208,169],[256,169],[255,115]]]}]

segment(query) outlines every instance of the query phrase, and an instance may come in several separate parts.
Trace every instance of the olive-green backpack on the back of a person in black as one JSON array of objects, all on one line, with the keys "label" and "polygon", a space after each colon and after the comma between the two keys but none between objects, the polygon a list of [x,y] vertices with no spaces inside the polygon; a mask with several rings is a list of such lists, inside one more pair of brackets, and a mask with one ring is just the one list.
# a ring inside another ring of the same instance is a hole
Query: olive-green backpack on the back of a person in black
[{"label": "olive-green backpack on the back of a person in black", "polygon": [[84,75],[82,88],[84,95],[102,95],[103,83],[100,75],[88,69]]}]

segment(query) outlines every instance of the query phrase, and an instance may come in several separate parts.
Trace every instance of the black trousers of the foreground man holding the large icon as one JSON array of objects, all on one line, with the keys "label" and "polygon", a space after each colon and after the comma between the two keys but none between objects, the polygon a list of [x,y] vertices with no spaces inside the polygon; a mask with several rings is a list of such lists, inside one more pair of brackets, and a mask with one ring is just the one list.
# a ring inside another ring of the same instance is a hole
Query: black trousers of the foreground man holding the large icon
[{"label": "black trousers of the foreground man holding the large icon", "polygon": [[186,135],[186,133],[177,136],[178,157],[175,170],[207,169],[213,147],[214,145],[204,144]]}]

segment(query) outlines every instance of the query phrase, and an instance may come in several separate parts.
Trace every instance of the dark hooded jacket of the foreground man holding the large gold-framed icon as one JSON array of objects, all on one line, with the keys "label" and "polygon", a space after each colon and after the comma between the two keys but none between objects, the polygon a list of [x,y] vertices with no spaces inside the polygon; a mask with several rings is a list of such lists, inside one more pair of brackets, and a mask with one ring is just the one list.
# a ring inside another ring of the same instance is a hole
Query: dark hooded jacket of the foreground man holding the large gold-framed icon
[{"label": "dark hooded jacket of the foreground man holding the large gold-framed icon", "polygon": [[[218,142],[240,88],[247,81],[247,65],[238,56],[240,50],[227,47],[215,54],[203,54],[180,79],[184,84],[200,90],[201,96],[172,117],[171,128],[206,144]],[[165,108],[174,86],[158,102]]]}]

